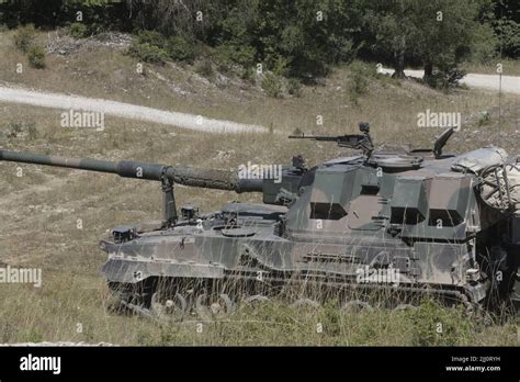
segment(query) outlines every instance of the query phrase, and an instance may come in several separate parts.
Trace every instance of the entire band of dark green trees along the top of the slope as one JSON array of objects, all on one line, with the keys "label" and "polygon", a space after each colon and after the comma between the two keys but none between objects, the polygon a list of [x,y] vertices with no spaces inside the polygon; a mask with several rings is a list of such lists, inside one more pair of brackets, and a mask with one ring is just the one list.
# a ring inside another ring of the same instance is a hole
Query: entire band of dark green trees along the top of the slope
[{"label": "entire band of dark green trees along the top of the slope", "polygon": [[145,40],[152,31],[178,50],[207,47],[230,64],[301,79],[353,58],[391,65],[397,77],[421,66],[428,77],[462,60],[520,56],[517,0],[3,0],[1,11],[8,27],[81,23],[86,33]]}]

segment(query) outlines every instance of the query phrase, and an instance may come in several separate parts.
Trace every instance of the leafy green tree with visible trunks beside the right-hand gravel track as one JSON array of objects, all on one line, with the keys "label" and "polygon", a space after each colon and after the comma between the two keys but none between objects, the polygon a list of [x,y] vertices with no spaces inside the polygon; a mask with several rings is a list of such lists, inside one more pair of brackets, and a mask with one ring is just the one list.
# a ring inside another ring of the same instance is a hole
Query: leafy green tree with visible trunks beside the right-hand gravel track
[{"label": "leafy green tree with visible trunks beside the right-hand gravel track", "polygon": [[393,57],[395,77],[405,63],[420,63],[425,77],[448,72],[471,52],[478,37],[479,10],[488,0],[377,0],[369,3],[365,25],[376,48]]}]

